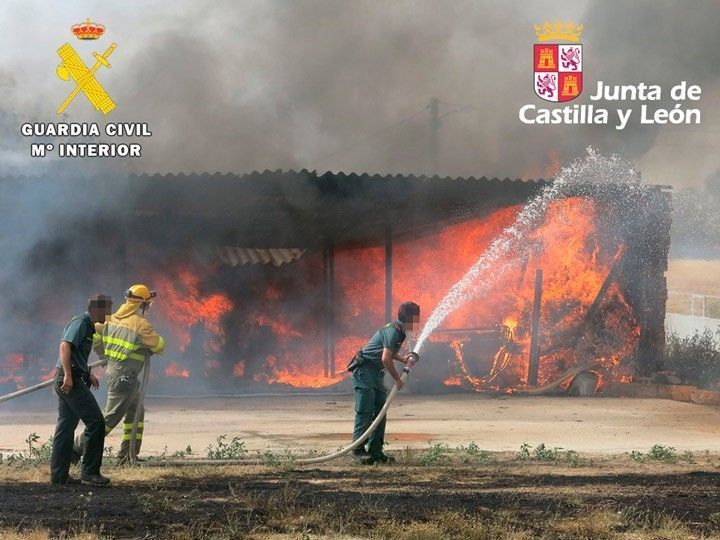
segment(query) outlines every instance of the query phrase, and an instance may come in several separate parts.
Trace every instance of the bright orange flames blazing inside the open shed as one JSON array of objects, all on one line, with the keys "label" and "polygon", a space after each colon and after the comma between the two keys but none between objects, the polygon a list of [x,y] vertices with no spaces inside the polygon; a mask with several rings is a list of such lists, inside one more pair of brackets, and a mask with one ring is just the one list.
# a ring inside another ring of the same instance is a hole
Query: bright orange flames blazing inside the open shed
[{"label": "bright orange flames blazing inside the open shed", "polygon": [[[420,239],[396,241],[393,306],[412,299],[421,305],[427,317],[493,239],[514,221],[519,209],[494,210],[484,217],[448,226]],[[618,371],[637,347],[639,326],[619,287],[613,285],[607,289],[602,303],[604,324],[613,339],[598,344],[598,340],[583,330],[587,310],[621,254],[617,244],[601,238],[598,229],[601,212],[602,209],[588,199],[553,202],[543,224],[524,239],[527,249],[497,261],[499,267],[509,270],[493,275],[494,281],[482,295],[461,306],[443,323],[443,328],[448,330],[503,328],[496,348],[489,352],[478,349],[479,334],[472,331],[462,336],[443,331],[433,334],[430,338],[433,344],[444,343],[448,347],[450,364],[445,385],[467,383],[476,390],[492,388],[505,392],[526,386],[538,268],[544,272],[539,384],[552,381],[578,362],[596,358],[606,359],[602,369],[610,373],[602,380],[613,380],[612,373]],[[254,307],[247,308],[246,314],[239,318],[250,330],[232,338],[232,343],[239,344],[237,354],[243,358],[234,364],[228,361],[235,377],[268,384],[323,387],[349,376],[344,370],[347,361],[387,322],[384,320],[384,248],[335,252],[334,376],[326,374],[331,369],[323,364],[322,317],[317,316],[317,311],[311,316],[289,312],[285,307],[293,295],[317,298],[322,294],[319,279],[307,280],[307,276],[320,275],[319,262],[320,256],[316,254],[292,263],[292,272],[287,271],[284,281],[271,280],[252,299]],[[187,264],[181,265],[175,275],[156,279],[157,309],[180,343],[180,351],[190,342],[189,327],[202,323],[209,334],[203,354],[215,358],[213,355],[222,354],[226,340],[223,317],[233,312],[237,315],[236,310],[244,306],[235,306],[224,293],[201,292],[201,279],[203,271],[190,269]],[[570,339],[578,332],[583,335]],[[253,339],[262,341],[264,346],[242,349],[246,341]],[[577,342],[575,347],[563,346],[573,341]],[[464,347],[465,344],[468,346]],[[259,368],[254,363],[258,357]],[[217,365],[210,366],[207,359],[206,365],[210,371],[222,372]],[[187,369],[177,365],[170,369],[170,366],[166,369],[168,376],[189,377]]]}]

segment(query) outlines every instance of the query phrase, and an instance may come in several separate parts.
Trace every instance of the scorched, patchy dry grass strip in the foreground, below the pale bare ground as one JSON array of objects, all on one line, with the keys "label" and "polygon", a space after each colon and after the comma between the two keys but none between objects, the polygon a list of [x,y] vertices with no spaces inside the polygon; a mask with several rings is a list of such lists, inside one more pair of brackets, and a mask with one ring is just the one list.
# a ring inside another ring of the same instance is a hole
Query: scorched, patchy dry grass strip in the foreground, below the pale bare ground
[{"label": "scorched, patchy dry grass strip in the foreground, below the pale bare ground", "polygon": [[101,489],[0,466],[0,537],[718,538],[717,454],[673,464],[398,457],[382,467],[106,467],[114,484]]}]

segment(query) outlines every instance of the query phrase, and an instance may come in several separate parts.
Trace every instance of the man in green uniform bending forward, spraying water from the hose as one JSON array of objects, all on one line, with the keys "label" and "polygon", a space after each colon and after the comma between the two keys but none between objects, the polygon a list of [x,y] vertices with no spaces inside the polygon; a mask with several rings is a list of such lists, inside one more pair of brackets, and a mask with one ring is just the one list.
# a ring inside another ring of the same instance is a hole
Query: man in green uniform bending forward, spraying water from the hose
[{"label": "man in green uniform bending forward, spraying water from the hose", "polygon": [[[399,356],[400,347],[405,341],[406,332],[413,331],[420,321],[420,306],[414,302],[403,302],[398,307],[396,321],[386,324],[375,332],[370,341],[360,350],[348,365],[352,373],[355,389],[355,429],[353,441],[359,439],[370,427],[385,404],[387,390],[383,382],[385,370],[394,379],[400,390],[404,383],[393,361],[407,364],[412,355]],[[383,453],[385,439],[385,418],[370,435],[365,444],[353,451],[353,457],[363,465],[390,463],[395,461]]]}]

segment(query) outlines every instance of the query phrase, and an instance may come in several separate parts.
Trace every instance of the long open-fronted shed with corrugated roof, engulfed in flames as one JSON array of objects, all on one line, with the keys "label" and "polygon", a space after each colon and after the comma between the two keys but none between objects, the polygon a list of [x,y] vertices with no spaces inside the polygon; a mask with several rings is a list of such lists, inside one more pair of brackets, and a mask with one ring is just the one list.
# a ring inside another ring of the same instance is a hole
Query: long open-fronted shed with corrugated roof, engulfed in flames
[{"label": "long open-fronted shed with corrugated roof, engulfed in flames", "polygon": [[[149,282],[169,343],[154,385],[187,392],[342,384],[400,301],[427,317],[548,183],[306,170],[62,182],[115,203],[72,218],[82,243],[57,228],[28,246],[22,267],[45,289],[35,316],[16,306],[5,326],[59,327],[63,302]],[[410,388],[513,391],[586,365],[599,384],[656,372],[669,231],[661,187],[599,184],[552,201],[526,249],[504,261],[510,270],[433,332]],[[68,286],[76,257],[91,268]],[[52,293],[68,287],[74,296]],[[48,341],[5,345],[0,384],[46,376]]]}]

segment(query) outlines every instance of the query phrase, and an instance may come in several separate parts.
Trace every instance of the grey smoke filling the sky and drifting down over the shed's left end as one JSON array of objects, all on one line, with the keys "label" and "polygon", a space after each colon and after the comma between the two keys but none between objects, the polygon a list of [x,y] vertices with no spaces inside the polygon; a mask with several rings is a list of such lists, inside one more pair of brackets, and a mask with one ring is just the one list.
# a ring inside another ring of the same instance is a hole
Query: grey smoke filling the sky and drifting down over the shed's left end
[{"label": "grey smoke filling the sky and drifting down over the shed's left end", "polygon": [[[79,308],[88,294],[117,296],[129,280],[143,279],[125,264],[137,254],[112,248],[135,240],[124,238],[132,219],[126,203],[134,197],[128,172],[547,177],[586,145],[638,161],[651,172],[647,182],[700,185],[720,168],[710,147],[720,97],[714,0],[93,1],[82,9],[40,0],[0,7],[0,176],[47,179],[42,189],[22,181],[3,188],[5,321],[51,313],[61,325],[68,306]],[[108,33],[102,43],[73,41],[86,61],[118,43],[112,67],[98,75],[118,104],[110,119],[148,122],[153,137],[143,141],[141,160],[31,159],[21,123],[104,122],[82,97],[66,117],[55,115],[70,90],[55,76],[56,49],[88,16]],[[585,25],[586,93],[598,80],[665,89],[688,80],[703,85],[705,123],[623,132],[521,124],[519,107],[539,103],[531,87],[533,25],[556,19]],[[432,98],[439,99],[436,151]],[[59,177],[89,181],[67,191],[54,182]],[[88,252],[105,257],[87,260]],[[166,255],[149,257],[162,266]],[[15,327],[0,324],[6,342],[47,342],[42,332],[18,337]]]}]

